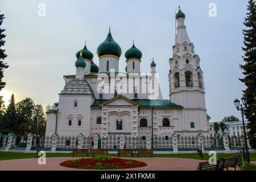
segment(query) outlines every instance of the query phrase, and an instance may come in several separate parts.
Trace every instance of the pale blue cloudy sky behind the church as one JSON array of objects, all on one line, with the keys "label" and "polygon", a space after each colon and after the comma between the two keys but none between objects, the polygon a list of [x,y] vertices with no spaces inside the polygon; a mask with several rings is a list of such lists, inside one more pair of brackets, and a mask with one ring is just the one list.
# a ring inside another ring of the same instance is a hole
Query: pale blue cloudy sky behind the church
[{"label": "pale blue cloudy sky behind the church", "polygon": [[[46,16],[39,16],[44,3]],[[216,16],[209,16],[210,3]],[[150,72],[154,57],[163,99],[168,97],[168,60],[175,43],[175,10],[181,6],[189,39],[200,56],[204,72],[205,100],[211,121],[240,113],[234,99],[242,97],[245,86],[239,67],[243,64],[242,29],[247,1],[241,0],[106,0],[33,1],[1,0],[2,24],[7,35],[3,47],[9,65],[4,72],[5,88],[0,93],[7,104],[11,93],[16,102],[31,97],[36,104],[52,105],[59,100],[65,84],[63,75],[75,74],[75,54],[84,47],[94,55],[111,26],[121,46],[119,71],[125,72],[125,52],[133,44],[142,51],[141,72]]]}]

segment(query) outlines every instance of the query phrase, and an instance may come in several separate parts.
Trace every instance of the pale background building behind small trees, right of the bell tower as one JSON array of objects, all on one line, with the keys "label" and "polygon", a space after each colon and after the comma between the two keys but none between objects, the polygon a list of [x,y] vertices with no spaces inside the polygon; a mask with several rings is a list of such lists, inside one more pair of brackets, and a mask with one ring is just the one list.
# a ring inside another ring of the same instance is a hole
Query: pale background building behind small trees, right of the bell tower
[{"label": "pale background building behind small trees, right of the bell tower", "polygon": [[[220,123],[220,122],[218,122]],[[240,137],[243,136],[243,122],[242,121],[226,121],[224,122],[225,125],[227,126],[227,129],[225,129],[224,133],[228,133],[229,136],[236,136],[236,137]],[[249,122],[245,121],[245,131],[246,133],[249,131],[247,129],[247,124]],[[216,135],[215,131],[214,131],[214,122],[210,122],[210,136],[214,136]],[[222,135],[222,131],[221,129],[218,131],[217,135]]]}]

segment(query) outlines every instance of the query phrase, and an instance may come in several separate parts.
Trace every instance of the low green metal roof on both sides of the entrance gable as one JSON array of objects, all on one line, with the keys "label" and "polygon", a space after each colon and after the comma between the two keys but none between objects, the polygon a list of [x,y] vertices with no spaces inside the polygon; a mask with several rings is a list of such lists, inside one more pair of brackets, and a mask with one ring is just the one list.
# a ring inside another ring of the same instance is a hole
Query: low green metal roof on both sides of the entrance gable
[{"label": "low green metal roof on both sides of the entrance gable", "polygon": [[[104,100],[104,99],[95,100],[91,106],[92,107],[100,106],[100,104],[103,104],[106,101],[108,101],[108,100]],[[153,107],[154,106],[154,107],[177,107],[177,108],[182,108],[182,106],[173,104],[170,100],[133,99],[131,101],[137,102],[142,107]]]}]

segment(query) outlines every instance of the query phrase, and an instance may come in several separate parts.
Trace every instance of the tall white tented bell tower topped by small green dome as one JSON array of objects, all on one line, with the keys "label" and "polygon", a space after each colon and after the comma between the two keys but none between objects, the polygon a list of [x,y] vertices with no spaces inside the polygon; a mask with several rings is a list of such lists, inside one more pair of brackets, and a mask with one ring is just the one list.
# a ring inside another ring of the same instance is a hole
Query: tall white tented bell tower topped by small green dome
[{"label": "tall white tented bell tower topped by small green dome", "polygon": [[188,131],[207,131],[207,109],[200,57],[195,54],[184,24],[185,14],[176,14],[177,35],[173,56],[169,60],[169,96],[171,102],[183,106],[183,127]]}]

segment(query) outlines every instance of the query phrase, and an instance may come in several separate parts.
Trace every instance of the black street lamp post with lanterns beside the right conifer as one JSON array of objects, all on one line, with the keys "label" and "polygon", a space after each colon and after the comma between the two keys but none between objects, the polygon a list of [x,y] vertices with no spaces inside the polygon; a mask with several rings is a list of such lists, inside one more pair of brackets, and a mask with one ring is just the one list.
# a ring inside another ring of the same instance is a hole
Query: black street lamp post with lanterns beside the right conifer
[{"label": "black street lamp post with lanterns beside the right conifer", "polygon": [[[248,150],[248,145],[247,145],[247,139],[246,139],[246,131],[245,131],[245,121],[243,119],[243,110],[245,109],[245,107],[247,106],[247,100],[246,100],[246,97],[243,96],[241,98],[242,102],[243,102],[243,105],[241,104],[240,105],[240,100],[238,100],[236,98],[236,100],[234,100],[234,105],[236,106],[237,110],[240,110],[241,111],[241,114],[242,114],[242,121],[243,121],[243,138],[245,139],[245,160],[246,162],[250,162],[250,153],[249,153],[249,150]],[[240,108],[239,108],[240,106]],[[244,107],[243,107],[244,106]]]}]

